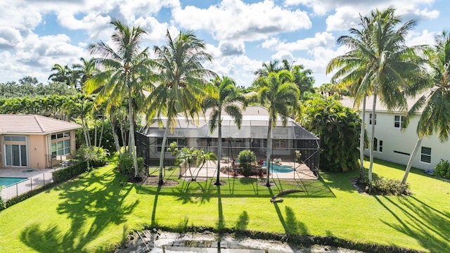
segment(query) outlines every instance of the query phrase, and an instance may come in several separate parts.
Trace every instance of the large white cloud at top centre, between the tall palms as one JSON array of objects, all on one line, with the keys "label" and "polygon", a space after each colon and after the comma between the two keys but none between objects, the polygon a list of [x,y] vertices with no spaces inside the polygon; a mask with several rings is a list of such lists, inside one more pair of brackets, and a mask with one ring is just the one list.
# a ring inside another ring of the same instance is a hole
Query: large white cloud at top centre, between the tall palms
[{"label": "large white cloud at top centre, between the tall palms", "polygon": [[255,4],[224,0],[209,8],[176,8],[174,20],[181,27],[210,32],[217,40],[255,41],[280,32],[311,27],[306,12],[290,11],[269,0]]}]

